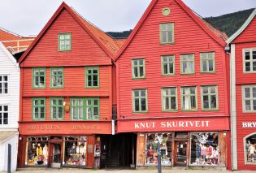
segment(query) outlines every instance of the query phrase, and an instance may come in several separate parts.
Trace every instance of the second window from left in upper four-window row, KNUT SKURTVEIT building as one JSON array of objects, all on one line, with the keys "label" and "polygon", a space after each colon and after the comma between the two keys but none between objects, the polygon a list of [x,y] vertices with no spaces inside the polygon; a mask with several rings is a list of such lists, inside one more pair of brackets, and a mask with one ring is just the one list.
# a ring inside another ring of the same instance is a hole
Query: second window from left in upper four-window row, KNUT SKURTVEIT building
[{"label": "second window from left in upper four-window row, KNUT SKURTVEIT building", "polygon": [[174,55],[162,56],[162,75],[169,76],[175,73],[175,57]]}]

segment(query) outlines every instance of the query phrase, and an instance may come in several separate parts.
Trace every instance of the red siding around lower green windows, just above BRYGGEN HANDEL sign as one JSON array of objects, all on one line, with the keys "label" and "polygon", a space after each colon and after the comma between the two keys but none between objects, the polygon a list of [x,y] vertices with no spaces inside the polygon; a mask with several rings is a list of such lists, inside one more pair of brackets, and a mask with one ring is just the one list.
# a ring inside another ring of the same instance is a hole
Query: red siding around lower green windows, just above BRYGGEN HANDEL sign
[{"label": "red siding around lower green windows, just above BRYGGEN HANDEL sign", "polygon": [[[67,100],[67,105],[69,105],[70,100]],[[23,98],[23,114],[22,121],[33,121],[33,105],[31,97]],[[111,120],[111,107],[109,106],[110,99],[108,97],[100,97],[100,119],[99,120]],[[37,121],[37,120],[35,120]],[[46,97],[46,121],[54,121],[50,119],[50,97]],[[64,112],[64,120],[61,121],[72,121],[71,111]]]}]

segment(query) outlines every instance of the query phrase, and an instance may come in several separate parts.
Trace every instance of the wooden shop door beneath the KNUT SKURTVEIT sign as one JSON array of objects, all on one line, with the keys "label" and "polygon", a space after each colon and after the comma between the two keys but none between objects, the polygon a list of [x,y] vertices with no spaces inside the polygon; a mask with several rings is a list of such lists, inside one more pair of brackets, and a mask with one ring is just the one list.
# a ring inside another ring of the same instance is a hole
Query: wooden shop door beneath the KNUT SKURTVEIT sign
[{"label": "wooden shop door beneath the KNUT SKURTVEIT sign", "polygon": [[187,165],[187,141],[175,141],[174,166],[186,167]]}]

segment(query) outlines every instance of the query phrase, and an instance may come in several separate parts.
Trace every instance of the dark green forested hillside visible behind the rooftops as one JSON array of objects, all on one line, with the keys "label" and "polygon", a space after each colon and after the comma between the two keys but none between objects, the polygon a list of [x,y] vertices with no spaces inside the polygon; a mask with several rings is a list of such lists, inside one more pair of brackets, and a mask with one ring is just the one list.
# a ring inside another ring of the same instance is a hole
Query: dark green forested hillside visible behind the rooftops
[{"label": "dark green forested hillside visible behind the rooftops", "polygon": [[[242,24],[244,24],[245,20],[249,17],[252,11],[254,11],[254,8],[245,11],[237,11],[227,15],[220,15],[217,17],[206,17],[204,19],[215,28],[218,28],[220,31],[225,32],[228,37],[230,37],[234,32],[236,32],[238,28],[241,27]],[[114,38],[127,38],[131,32],[132,29],[123,32],[106,33]]]}]

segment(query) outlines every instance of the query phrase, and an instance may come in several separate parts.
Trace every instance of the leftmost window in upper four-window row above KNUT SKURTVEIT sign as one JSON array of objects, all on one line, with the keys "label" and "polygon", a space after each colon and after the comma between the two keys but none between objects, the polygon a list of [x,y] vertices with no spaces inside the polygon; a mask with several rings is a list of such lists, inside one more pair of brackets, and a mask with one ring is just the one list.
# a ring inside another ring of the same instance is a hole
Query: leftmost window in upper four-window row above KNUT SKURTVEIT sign
[{"label": "leftmost window in upper four-window row above KNUT SKURTVEIT sign", "polygon": [[145,59],[132,59],[132,78],[145,78]]}]

